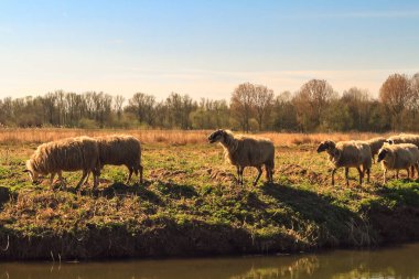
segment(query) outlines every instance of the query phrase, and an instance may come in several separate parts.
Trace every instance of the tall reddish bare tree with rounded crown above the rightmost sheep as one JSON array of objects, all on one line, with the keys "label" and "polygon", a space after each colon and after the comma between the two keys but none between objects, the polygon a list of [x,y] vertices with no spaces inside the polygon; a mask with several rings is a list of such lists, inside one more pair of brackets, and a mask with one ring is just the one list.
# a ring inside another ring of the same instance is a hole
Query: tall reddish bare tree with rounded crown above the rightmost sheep
[{"label": "tall reddish bare tree with rounded crown above the rightmost sheep", "polygon": [[402,112],[415,99],[406,75],[393,74],[382,85],[379,98],[393,116],[393,130],[400,129]]}]

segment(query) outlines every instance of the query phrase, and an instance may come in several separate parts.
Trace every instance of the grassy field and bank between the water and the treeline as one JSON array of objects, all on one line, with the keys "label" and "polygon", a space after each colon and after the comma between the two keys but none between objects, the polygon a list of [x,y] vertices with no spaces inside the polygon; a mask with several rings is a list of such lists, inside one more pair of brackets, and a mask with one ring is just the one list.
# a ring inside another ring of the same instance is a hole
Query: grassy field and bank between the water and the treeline
[{"label": "grassy field and bank between the water and the treeline", "polygon": [[357,185],[343,170],[330,185],[326,154],[316,143],[369,133],[266,133],[276,143],[275,183],[251,186],[256,170],[236,185],[235,169],[208,131],[127,131],[143,141],[146,182],[123,184],[127,170],[106,167],[97,191],[72,191],[80,173],[66,173],[68,190],[32,185],[22,173],[40,142],[121,131],[0,130],[0,258],[66,259],[288,253],[322,247],[374,246],[419,238],[419,183]]}]

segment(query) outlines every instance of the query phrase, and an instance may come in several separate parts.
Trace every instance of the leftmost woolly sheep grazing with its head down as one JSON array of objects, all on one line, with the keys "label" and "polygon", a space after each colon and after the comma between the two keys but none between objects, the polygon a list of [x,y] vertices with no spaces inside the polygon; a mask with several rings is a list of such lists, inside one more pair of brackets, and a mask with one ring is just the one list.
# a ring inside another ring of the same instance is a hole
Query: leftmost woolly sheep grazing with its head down
[{"label": "leftmost woolly sheep grazing with its head down", "polygon": [[40,175],[51,173],[50,184],[53,186],[55,174],[63,182],[63,171],[83,170],[76,190],[80,187],[83,182],[87,181],[88,173],[94,173],[94,187],[97,186],[100,175],[99,165],[99,148],[97,141],[89,137],[77,137],[51,141],[37,147],[35,152],[25,163],[30,179],[33,183],[37,183]]}]

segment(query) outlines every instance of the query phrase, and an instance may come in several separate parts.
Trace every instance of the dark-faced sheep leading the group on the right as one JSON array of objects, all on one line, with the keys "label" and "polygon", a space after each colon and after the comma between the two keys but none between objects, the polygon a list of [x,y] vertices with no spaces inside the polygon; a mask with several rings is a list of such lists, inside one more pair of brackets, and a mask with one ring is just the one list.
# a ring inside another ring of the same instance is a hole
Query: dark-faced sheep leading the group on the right
[{"label": "dark-faced sheep leading the group on the right", "polygon": [[[332,185],[334,185],[334,174],[341,167],[345,167],[346,185],[350,185],[350,168],[356,168],[359,173],[359,184],[363,183],[365,171],[367,172],[367,182],[369,183],[369,172],[372,167],[372,153],[369,144],[363,141],[334,141],[326,140],[318,147],[318,153],[326,151],[329,160],[334,164],[332,170]],[[363,170],[361,170],[363,167]]]}]

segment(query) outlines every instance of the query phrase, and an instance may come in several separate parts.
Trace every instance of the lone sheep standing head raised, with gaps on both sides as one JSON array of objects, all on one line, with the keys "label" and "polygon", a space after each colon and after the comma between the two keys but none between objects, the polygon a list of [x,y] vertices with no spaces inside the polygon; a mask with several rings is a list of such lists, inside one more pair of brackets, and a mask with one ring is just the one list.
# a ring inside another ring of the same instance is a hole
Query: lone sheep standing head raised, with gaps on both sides
[{"label": "lone sheep standing head raised, with gaps on both sides", "polygon": [[253,185],[256,186],[266,169],[266,178],[273,182],[275,147],[272,141],[265,138],[233,135],[229,130],[216,130],[208,136],[208,142],[219,142],[225,151],[226,159],[237,168],[238,183],[243,185],[243,172],[246,167],[255,167],[258,170]]}]

